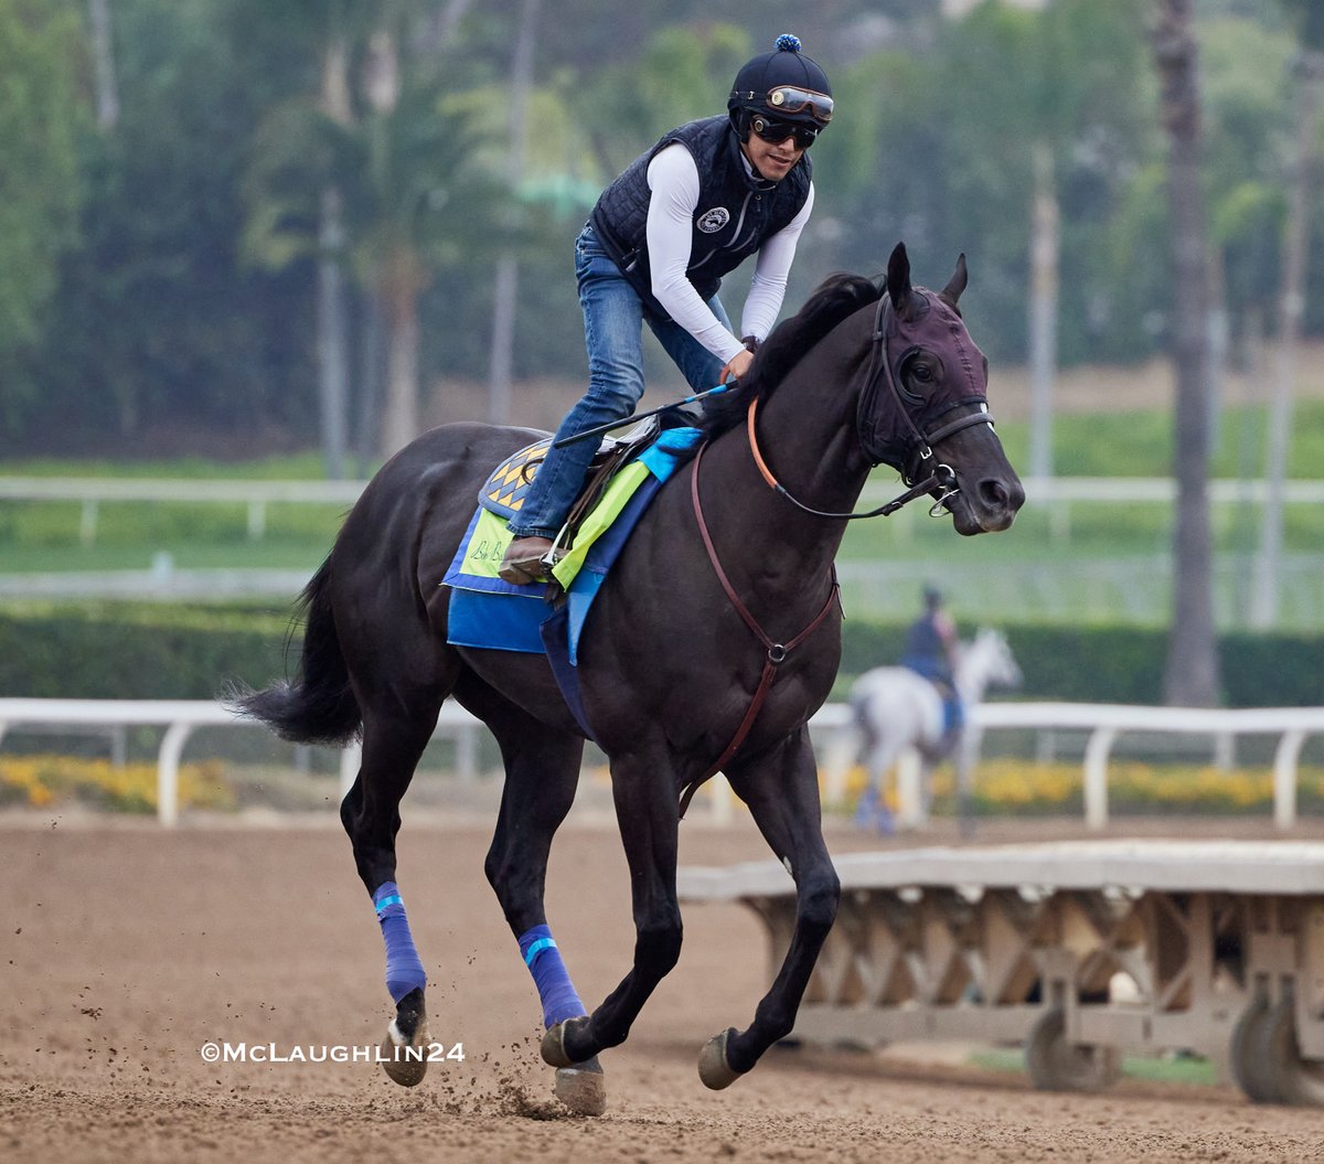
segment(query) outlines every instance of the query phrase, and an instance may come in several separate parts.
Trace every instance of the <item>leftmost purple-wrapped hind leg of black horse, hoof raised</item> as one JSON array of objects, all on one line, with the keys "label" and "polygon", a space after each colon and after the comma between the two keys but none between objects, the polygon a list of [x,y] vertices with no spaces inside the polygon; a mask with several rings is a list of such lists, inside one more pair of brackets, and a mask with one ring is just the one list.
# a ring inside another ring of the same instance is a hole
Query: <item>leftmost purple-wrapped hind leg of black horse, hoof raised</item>
[{"label": "leftmost purple-wrapped hind leg of black horse, hoof raised", "polygon": [[412,1087],[428,1069],[428,983],[414,948],[404,902],[396,886],[396,833],[400,800],[432,739],[445,686],[399,685],[363,712],[363,763],[346,799],[340,821],[354,845],[354,859],[372,897],[387,946],[387,989],[396,1017],[383,1041],[383,1067],[397,1083]]}]

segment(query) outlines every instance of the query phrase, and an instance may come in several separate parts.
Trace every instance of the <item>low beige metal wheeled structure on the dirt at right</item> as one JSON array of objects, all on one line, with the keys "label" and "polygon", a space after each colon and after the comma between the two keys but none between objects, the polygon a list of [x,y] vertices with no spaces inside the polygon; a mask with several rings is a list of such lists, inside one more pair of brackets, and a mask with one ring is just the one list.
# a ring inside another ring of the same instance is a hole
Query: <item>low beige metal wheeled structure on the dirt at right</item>
[{"label": "low beige metal wheeled structure on the dirt at right", "polygon": [[[1207,1055],[1256,1102],[1324,1104],[1324,844],[1083,841],[835,858],[841,908],[794,1037],[1023,1043],[1035,1086],[1096,1090],[1121,1051]],[[776,862],[682,869],[780,965]]]}]

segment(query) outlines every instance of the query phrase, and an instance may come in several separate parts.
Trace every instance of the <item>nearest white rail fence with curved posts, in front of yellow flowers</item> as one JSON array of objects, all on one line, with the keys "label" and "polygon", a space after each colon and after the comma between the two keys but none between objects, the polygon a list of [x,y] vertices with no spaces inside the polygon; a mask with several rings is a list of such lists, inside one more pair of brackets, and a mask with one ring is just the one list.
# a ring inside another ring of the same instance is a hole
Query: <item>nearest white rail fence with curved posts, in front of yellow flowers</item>
[{"label": "nearest white rail fence with curved posts, in front of yellow flowers", "polygon": [[[850,711],[834,703],[821,708],[810,727],[820,746],[828,746],[849,728]],[[1098,703],[982,703],[970,710],[970,724],[981,731],[1030,728],[1038,731],[1083,730],[1090,732],[1084,748],[1084,818],[1091,829],[1108,824],[1108,757],[1123,732],[1157,732],[1230,740],[1238,735],[1275,735],[1274,824],[1290,829],[1296,824],[1296,768],[1301,746],[1311,735],[1324,734],[1324,707],[1282,708],[1189,708],[1133,707]],[[0,744],[9,731],[23,728],[103,727],[119,730],[135,726],[164,727],[156,756],[158,817],[172,826],[179,820],[179,765],[184,744],[199,727],[248,726],[220,703],[211,701],[135,699],[0,699]],[[467,711],[448,703],[437,720],[437,734],[457,742],[457,771],[462,779],[477,772],[477,740],[482,724]],[[826,748],[824,748],[826,753]],[[340,752],[342,796],[359,769],[359,747]],[[841,801],[843,773],[828,772],[829,800]],[[900,781],[902,821],[923,820],[915,780]],[[714,818],[731,814],[731,793],[726,781],[712,781],[710,797]]]}]

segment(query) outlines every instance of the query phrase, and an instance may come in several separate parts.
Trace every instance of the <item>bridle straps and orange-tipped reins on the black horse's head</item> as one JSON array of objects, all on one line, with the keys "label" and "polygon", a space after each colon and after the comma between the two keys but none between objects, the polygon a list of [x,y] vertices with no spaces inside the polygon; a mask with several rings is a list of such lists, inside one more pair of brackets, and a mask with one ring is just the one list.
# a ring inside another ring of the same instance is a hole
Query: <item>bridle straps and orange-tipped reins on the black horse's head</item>
[{"label": "bridle straps and orange-tipped reins on the black horse's head", "polygon": [[[792,493],[773,475],[772,470],[768,467],[767,460],[759,449],[759,437],[755,425],[759,399],[755,397],[749,401],[745,428],[749,434],[749,450],[753,453],[755,463],[759,466],[763,479],[767,481],[768,485],[784,498],[786,498],[786,501],[789,501],[793,506],[806,514],[812,514],[816,518],[830,518],[833,520],[842,522],[853,522],[858,518],[886,518],[890,514],[895,514],[899,509],[916,498],[932,494],[935,489],[939,490],[939,497],[929,507],[928,512],[929,516],[939,516],[947,506],[947,502],[956,497],[961,490],[957,482],[956,470],[953,470],[951,465],[944,465],[941,461],[935,458],[933,445],[947,440],[953,433],[959,433],[961,429],[972,428],[977,424],[986,424],[990,428],[993,426],[993,414],[988,409],[988,397],[982,393],[970,393],[948,404],[947,408],[931,417],[929,422],[949,414],[957,408],[973,407],[973,411],[963,413],[932,432],[925,432],[920,428],[920,422],[911,416],[910,409],[906,407],[906,401],[902,399],[900,389],[896,385],[896,375],[892,371],[892,362],[888,358],[887,331],[894,316],[895,313],[892,310],[891,297],[883,295],[883,298],[878,301],[878,311],[874,315],[874,334],[871,336],[869,365],[865,371],[865,387],[859,393],[859,405],[855,412],[855,426],[859,433],[861,445],[863,446],[865,453],[871,458],[871,462],[874,465],[880,465],[886,461],[890,465],[900,463],[904,466],[902,469],[902,481],[904,481],[910,489],[899,497],[892,498],[886,505],[866,512],[834,514],[824,510],[816,510],[793,497]],[[904,358],[906,356],[903,355],[902,359],[904,360]],[[870,448],[873,442],[870,441],[867,433],[870,429],[870,417],[874,412],[874,403],[879,392],[879,384],[887,385],[887,389],[892,395],[892,400],[896,403],[896,411],[900,413],[906,422],[906,428],[910,432],[907,438],[904,438],[899,445],[884,444],[876,448]],[[928,467],[928,475],[923,479],[916,479],[924,467]]]}]

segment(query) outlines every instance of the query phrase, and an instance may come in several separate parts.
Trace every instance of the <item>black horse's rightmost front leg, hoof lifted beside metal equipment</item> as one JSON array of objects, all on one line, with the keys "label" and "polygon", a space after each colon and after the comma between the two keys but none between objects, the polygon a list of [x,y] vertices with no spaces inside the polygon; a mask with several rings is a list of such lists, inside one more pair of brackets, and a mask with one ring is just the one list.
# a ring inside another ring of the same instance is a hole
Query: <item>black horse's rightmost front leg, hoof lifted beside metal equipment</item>
[{"label": "black horse's rightmost front leg, hoof lifted beside metal equipment", "polygon": [[733,1083],[790,1034],[841,899],[841,882],[824,844],[818,769],[808,730],[801,727],[772,751],[732,765],[727,779],[796,881],[796,931],[749,1028],[737,1032],[732,1026],[714,1036],[699,1055],[699,1078],[712,1089]]}]

